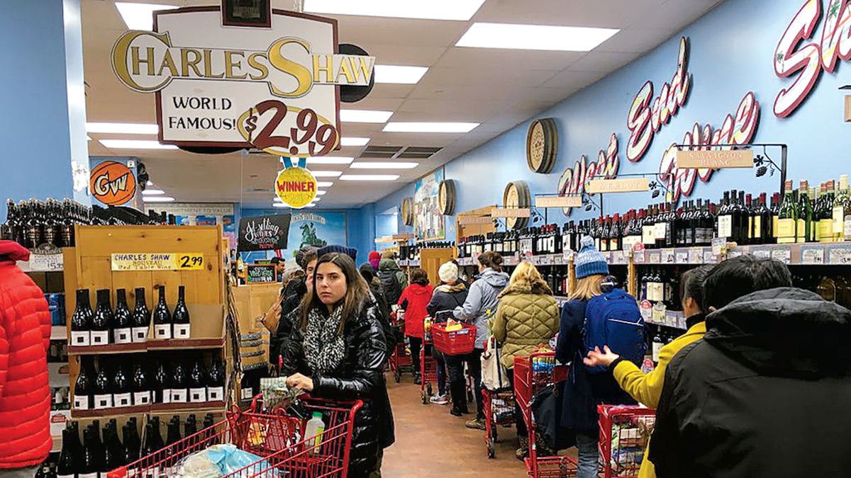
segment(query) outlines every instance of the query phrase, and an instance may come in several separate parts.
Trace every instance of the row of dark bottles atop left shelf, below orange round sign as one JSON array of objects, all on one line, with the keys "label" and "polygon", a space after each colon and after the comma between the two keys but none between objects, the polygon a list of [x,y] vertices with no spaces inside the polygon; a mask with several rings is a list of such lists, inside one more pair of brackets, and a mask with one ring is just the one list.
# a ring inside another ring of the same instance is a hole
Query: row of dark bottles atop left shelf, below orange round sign
[{"label": "row of dark bottles atop left shelf, below orange round sign", "polygon": [[6,222],[0,225],[0,240],[14,241],[26,248],[52,244],[70,248],[76,243],[74,225],[175,225],[174,214],[147,214],[126,206],[84,206],[71,199],[39,201],[30,199],[17,204],[6,202]]}]

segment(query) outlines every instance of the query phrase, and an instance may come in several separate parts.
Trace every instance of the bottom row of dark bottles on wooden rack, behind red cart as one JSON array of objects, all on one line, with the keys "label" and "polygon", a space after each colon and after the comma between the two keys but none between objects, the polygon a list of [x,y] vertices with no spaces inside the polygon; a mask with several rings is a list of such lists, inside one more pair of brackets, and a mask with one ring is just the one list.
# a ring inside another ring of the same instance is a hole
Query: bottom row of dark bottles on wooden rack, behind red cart
[{"label": "bottom row of dark bottles on wooden rack, behind red cart", "polygon": [[[83,441],[80,441],[79,424],[68,422],[65,430],[62,430],[62,450],[59,461],[52,473],[55,478],[105,478],[106,473],[122,466],[134,463],[140,458],[149,456],[165,447],[174,445],[181,440],[181,420],[174,415],[166,427],[166,441],[160,432],[159,417],[150,417],[145,425],[145,442],[136,428],[136,418],[129,418],[122,427],[122,438],[118,438],[117,419],[112,418],[104,425],[103,439],[100,434],[100,422],[94,420],[83,430]],[[201,430],[209,430],[208,433],[197,435],[194,440],[204,441],[205,445],[214,444],[214,425],[212,414],[207,414],[203,419]],[[186,418],[184,426],[184,437],[196,435],[198,432],[197,418],[194,414]],[[191,447],[191,444],[187,444]],[[133,475],[134,470],[129,470]],[[53,475],[44,475],[43,478],[53,478]]]}]

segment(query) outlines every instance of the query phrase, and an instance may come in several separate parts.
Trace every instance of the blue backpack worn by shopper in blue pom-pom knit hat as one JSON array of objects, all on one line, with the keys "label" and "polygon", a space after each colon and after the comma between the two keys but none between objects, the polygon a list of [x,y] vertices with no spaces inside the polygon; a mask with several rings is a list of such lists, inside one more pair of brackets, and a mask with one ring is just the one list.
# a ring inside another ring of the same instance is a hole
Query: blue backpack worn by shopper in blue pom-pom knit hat
[{"label": "blue backpack worn by shopper in blue pom-pom knit hat", "polygon": [[[615,354],[641,367],[645,341],[644,319],[638,304],[623,289],[597,295],[585,305],[585,325],[582,327],[585,355],[588,350],[608,345]],[[603,373],[606,367],[585,367],[589,373]]]}]

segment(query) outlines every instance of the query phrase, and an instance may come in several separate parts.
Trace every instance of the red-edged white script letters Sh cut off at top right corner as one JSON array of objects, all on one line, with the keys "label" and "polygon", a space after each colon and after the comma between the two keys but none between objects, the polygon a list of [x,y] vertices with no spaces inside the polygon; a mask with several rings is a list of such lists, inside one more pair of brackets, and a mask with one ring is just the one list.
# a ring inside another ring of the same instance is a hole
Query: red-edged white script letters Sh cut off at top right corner
[{"label": "red-edged white script letters Sh cut off at top right corner", "polygon": [[[797,74],[790,86],[774,100],[774,115],[788,117],[813,92],[822,71],[832,73],[839,60],[851,60],[851,5],[848,0],[829,0],[821,14],[822,0],[807,0],[786,28],[774,51],[774,74],[780,78]],[[813,37],[821,22],[821,37]]]}]

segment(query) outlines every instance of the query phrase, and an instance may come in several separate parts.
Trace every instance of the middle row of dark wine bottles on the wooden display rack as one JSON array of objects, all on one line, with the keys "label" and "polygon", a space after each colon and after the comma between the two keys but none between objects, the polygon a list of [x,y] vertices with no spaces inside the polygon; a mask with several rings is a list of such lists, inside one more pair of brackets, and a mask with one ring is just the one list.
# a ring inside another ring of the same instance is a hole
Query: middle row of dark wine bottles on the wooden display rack
[{"label": "middle row of dark wine bottles on the wooden display rack", "polygon": [[200,357],[191,369],[180,358],[162,360],[151,378],[146,360],[132,360],[132,376],[129,375],[129,362],[118,361],[110,366],[100,360],[100,367],[95,371],[94,360],[82,357],[80,373],[74,383],[74,409],[225,400],[226,372],[220,358],[213,359],[208,369]]}]

